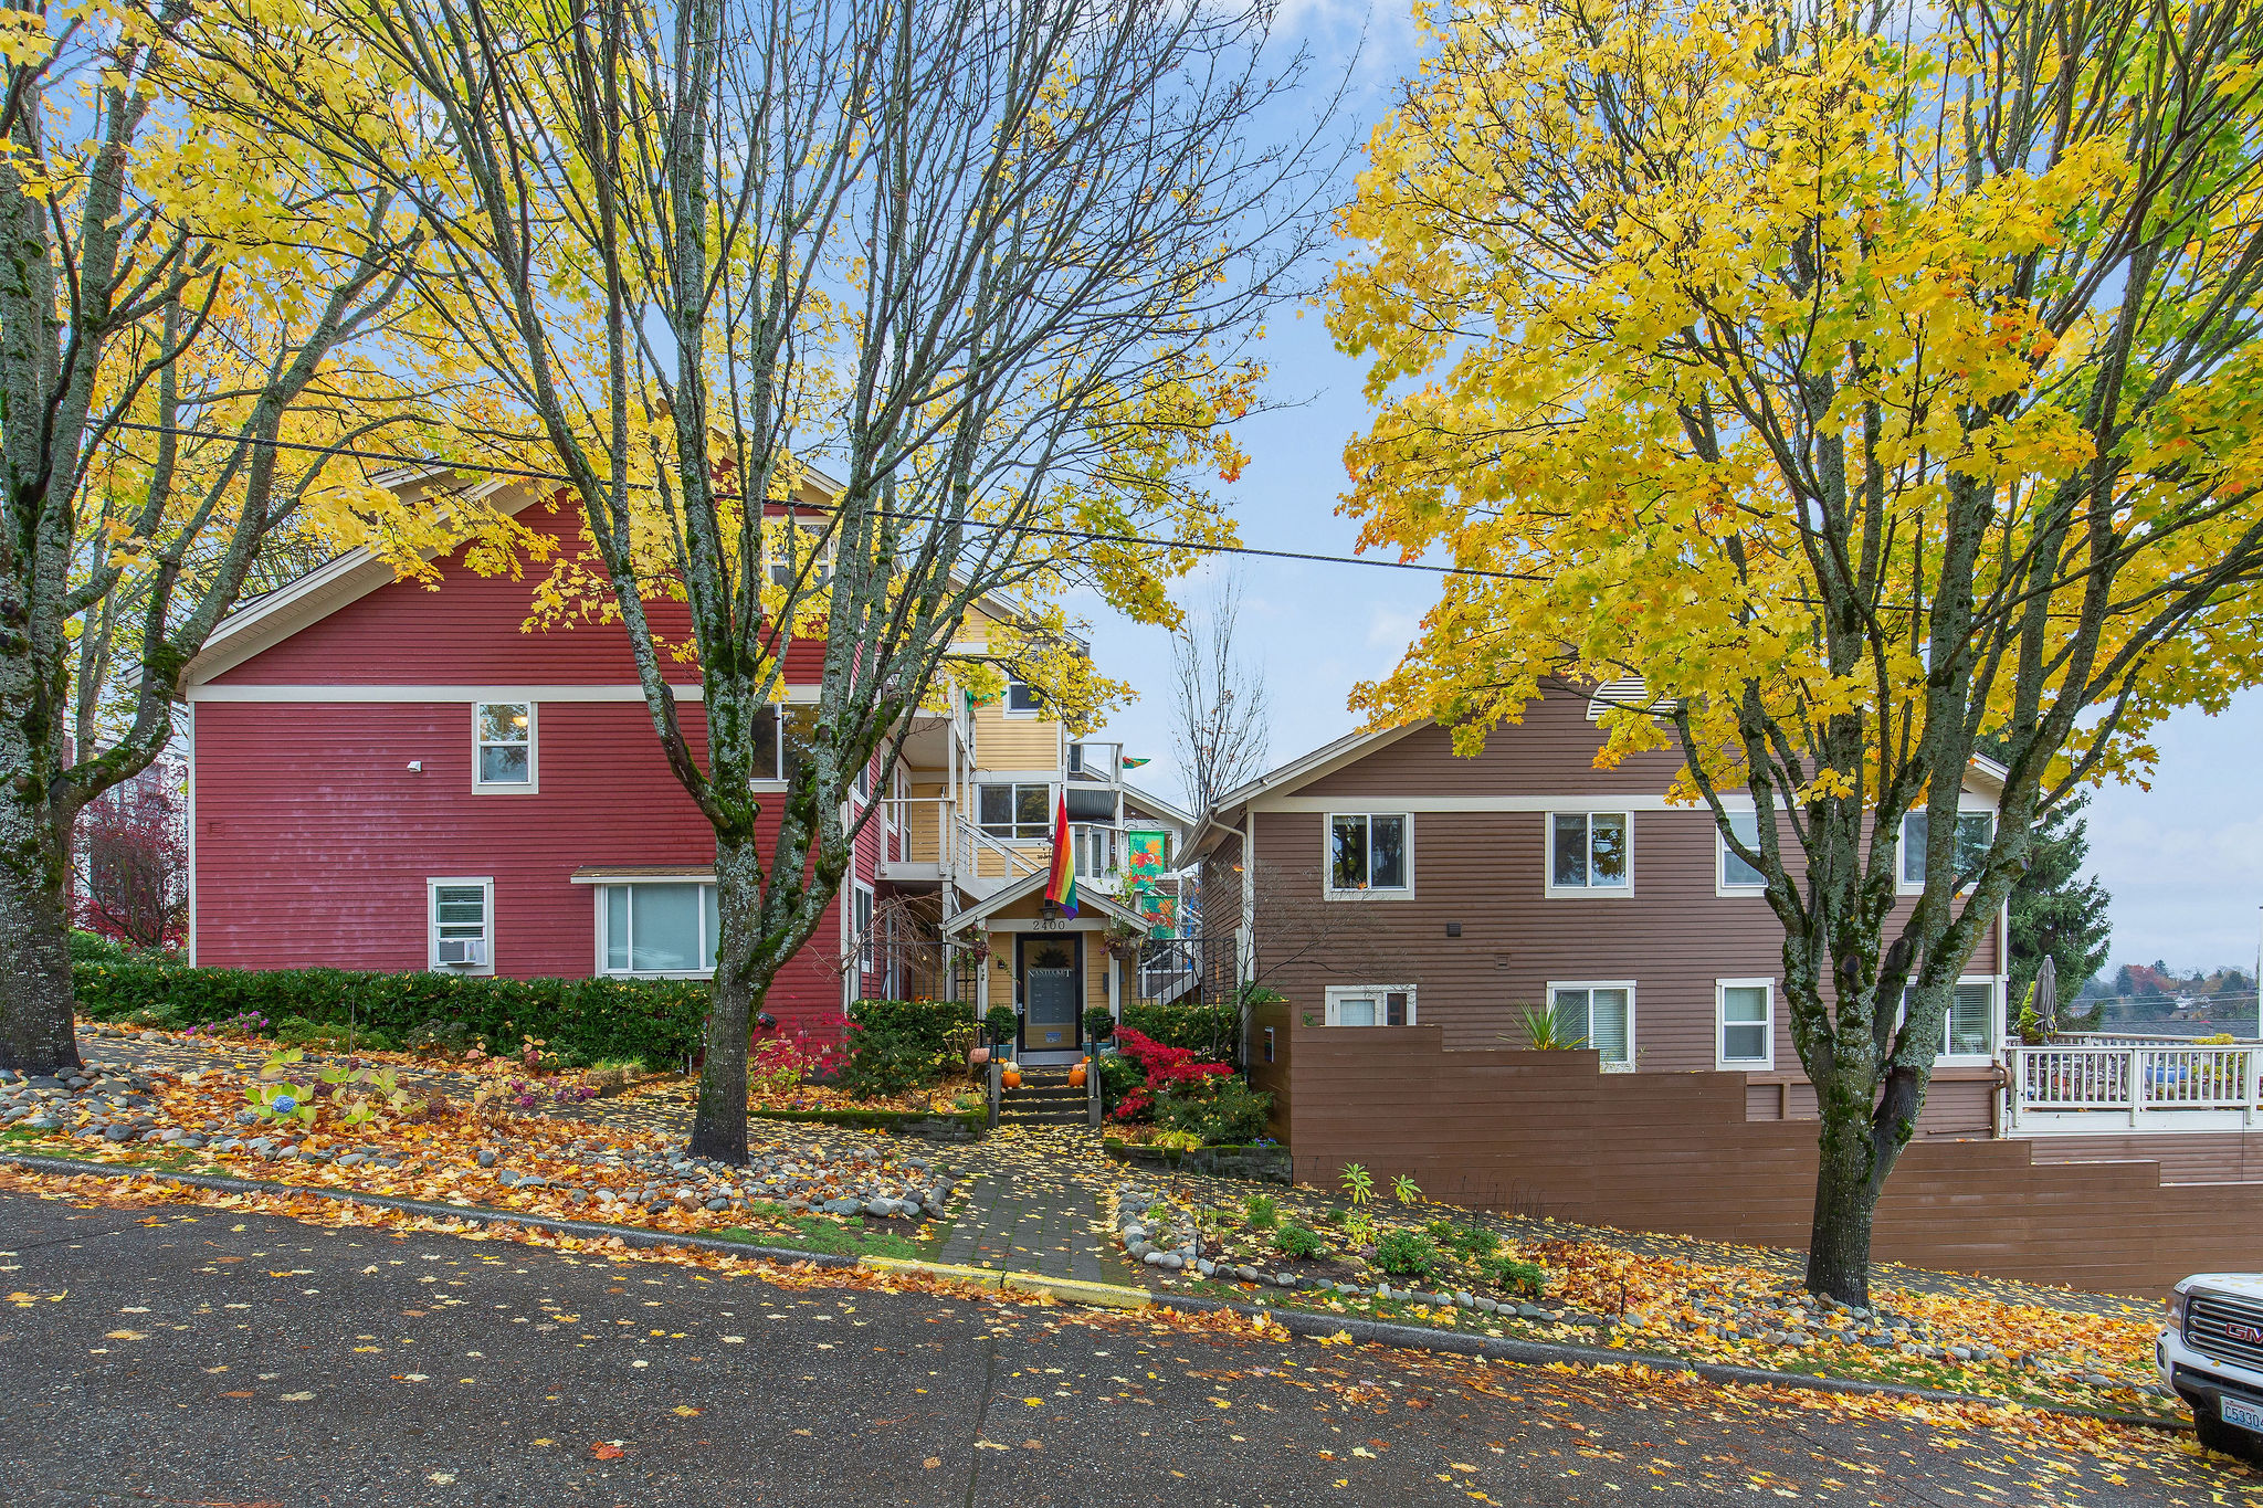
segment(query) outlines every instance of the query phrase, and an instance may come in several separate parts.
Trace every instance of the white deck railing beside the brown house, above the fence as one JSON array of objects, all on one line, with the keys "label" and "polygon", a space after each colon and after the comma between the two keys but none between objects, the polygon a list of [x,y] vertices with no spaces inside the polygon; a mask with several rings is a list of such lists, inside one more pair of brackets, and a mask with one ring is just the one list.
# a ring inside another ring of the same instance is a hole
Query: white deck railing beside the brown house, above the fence
[{"label": "white deck railing beside the brown house, above the fence", "polygon": [[2263,1045],[2172,1038],[2012,1047],[2005,1128],[2247,1130],[2263,1126]]}]

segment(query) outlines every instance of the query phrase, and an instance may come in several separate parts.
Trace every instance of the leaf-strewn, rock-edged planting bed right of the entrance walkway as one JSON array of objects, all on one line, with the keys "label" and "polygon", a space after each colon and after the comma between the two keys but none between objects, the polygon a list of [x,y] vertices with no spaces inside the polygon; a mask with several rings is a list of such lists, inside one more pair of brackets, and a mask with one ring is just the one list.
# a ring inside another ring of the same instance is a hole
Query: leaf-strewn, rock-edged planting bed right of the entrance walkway
[{"label": "leaf-strewn, rock-edged planting bed right of the entrance walkway", "polygon": [[1172,1194],[1120,1185],[1116,1237],[1163,1286],[1254,1286],[1279,1293],[1267,1302],[1369,1318],[2177,1418],[2152,1372],[2154,1305],[2048,1291],[2021,1302],[2021,1284],[1881,1268],[1874,1305],[1856,1309],[1806,1293],[1783,1253],[1659,1255],[1616,1232],[1448,1210],[1412,1185],[1378,1198],[1349,1171],[1342,1201],[1297,1187],[1231,1203],[1213,1189],[1204,1203],[1188,1198],[1193,1180]]}]

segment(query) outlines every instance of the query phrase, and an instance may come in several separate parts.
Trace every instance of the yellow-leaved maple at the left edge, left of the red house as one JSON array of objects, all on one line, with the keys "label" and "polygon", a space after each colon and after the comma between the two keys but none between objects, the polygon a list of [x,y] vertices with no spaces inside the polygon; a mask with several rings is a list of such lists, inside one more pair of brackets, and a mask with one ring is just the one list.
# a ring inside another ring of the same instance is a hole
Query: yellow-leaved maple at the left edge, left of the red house
[{"label": "yellow-leaved maple at the left edge, left of the red house", "polygon": [[263,552],[423,570],[480,513],[339,461],[444,369],[401,301],[423,233],[204,109],[197,25],[183,0],[0,11],[7,1067],[77,1063],[72,827],[172,742],[181,667]]}]

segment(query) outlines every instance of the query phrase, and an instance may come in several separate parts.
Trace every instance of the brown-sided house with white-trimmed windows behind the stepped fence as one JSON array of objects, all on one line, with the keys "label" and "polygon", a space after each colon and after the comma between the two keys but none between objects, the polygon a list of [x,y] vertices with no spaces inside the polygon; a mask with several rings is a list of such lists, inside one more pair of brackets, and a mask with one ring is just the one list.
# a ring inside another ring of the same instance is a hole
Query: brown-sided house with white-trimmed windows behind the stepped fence
[{"label": "brown-sided house with white-trimmed windows behind the stepped fence", "polygon": [[[1204,931],[1233,936],[1242,979],[1285,995],[1299,1026],[1521,1049],[1525,1013],[1552,1006],[1607,1074],[1736,1074],[1756,1119],[1813,1115],[1758,875],[1704,807],[1666,800],[1677,753],[1595,769],[1600,712],[1552,692],[1475,757],[1435,723],[1362,733],[1233,791],[1197,837]],[[1987,773],[1964,791],[1976,827],[1994,821]],[[1921,864],[1921,846],[1903,857]],[[1921,1135],[1991,1133],[2003,956],[1998,918]]]}]

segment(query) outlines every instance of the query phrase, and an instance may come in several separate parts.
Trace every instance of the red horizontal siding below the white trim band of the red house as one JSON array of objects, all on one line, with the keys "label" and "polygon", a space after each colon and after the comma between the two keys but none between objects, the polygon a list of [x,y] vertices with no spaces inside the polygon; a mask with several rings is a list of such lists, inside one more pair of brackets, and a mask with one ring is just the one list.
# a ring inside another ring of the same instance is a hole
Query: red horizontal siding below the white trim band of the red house
[{"label": "red horizontal siding below the white trim band of the red house", "polygon": [[[686,733],[704,753],[699,708]],[[493,875],[496,972],[591,974],[595,902],[573,870],[708,866],[713,830],[640,703],[539,703],[536,760],[539,794],[480,796],[464,703],[199,703],[197,961],[419,970],[425,879]],[[835,907],[774,1015],[840,1031],[837,945]]]}]

